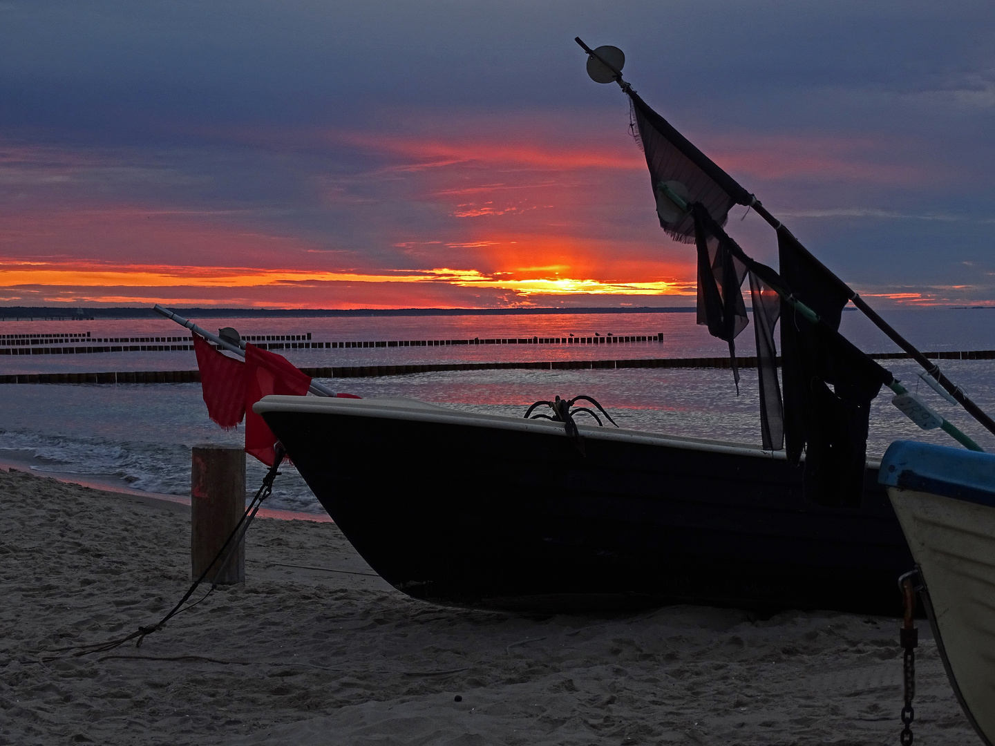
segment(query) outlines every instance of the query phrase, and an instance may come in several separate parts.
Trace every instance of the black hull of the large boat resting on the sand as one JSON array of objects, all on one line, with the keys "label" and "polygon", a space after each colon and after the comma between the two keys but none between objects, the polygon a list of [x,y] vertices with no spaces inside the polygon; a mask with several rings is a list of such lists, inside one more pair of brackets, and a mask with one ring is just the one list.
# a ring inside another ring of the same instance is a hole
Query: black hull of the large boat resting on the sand
[{"label": "black hull of the large boat resting on the sand", "polygon": [[830,508],[761,452],[594,434],[583,456],[561,428],[260,411],[356,550],[419,599],[901,611],[912,559],[877,469],[860,508]]}]

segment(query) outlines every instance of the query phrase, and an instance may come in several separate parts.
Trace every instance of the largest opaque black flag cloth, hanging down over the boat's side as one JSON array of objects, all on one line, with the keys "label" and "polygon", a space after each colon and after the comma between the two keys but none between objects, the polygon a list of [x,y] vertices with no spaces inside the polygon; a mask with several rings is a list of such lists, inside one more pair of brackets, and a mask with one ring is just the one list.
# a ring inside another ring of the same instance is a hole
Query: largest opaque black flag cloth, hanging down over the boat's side
[{"label": "largest opaque black flag cloth, hanging down over the boat's side", "polygon": [[[871,401],[891,376],[834,330],[849,292],[786,230],[777,232],[781,278],[825,324],[781,306],[784,433],[793,464],[805,450],[805,496],[857,506],[864,488]],[[833,388],[830,389],[829,385]]]}]

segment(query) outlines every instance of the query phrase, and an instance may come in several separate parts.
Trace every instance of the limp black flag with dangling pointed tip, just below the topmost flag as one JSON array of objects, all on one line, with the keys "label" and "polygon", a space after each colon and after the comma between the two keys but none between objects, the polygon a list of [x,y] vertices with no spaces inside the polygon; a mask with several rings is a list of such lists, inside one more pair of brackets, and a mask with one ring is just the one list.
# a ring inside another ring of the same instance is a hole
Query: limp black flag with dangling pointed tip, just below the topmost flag
[{"label": "limp black flag with dangling pointed tip, just below the topmost flag", "polygon": [[697,322],[707,326],[711,336],[728,342],[738,393],[734,340],[749,323],[739,289],[746,277],[746,266],[732,255],[732,239],[712,222],[703,206],[693,205],[692,214],[697,243]]}]

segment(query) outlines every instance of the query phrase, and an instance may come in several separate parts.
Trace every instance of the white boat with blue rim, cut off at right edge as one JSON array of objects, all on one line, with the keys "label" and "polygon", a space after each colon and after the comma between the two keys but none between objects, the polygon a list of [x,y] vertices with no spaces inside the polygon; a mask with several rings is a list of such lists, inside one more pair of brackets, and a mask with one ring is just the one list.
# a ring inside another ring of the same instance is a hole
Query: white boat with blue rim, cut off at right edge
[{"label": "white boat with blue rim, cut off at right edge", "polygon": [[897,441],[881,483],[908,540],[950,684],[995,742],[995,455]]}]

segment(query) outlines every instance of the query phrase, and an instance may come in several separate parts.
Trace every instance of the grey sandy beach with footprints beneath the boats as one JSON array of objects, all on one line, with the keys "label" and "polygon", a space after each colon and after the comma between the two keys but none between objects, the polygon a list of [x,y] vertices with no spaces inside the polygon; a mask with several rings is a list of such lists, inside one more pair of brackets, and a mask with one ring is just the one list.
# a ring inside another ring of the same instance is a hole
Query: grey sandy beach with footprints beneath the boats
[{"label": "grey sandy beach with footprints beneath the boats", "polygon": [[[189,508],[24,471],[0,472],[0,505],[0,744],[897,742],[896,620],[439,608],[331,523],[257,520],[244,586],[74,656],[186,590]],[[977,742],[920,636],[916,741]]]}]

